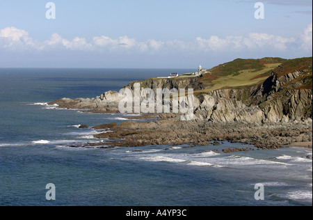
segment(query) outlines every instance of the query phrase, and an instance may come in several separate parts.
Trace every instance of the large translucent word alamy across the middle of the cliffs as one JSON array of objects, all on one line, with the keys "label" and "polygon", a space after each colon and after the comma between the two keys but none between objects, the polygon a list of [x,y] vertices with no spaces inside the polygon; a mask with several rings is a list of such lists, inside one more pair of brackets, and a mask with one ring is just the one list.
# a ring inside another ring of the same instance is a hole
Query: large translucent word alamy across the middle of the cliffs
[{"label": "large translucent word alamy across the middle of the cliffs", "polygon": [[[193,120],[193,88],[141,88],[141,84],[134,84],[134,91],[122,88],[118,104],[120,113],[182,113],[180,120]],[[172,104],[171,104],[172,103]]]}]

